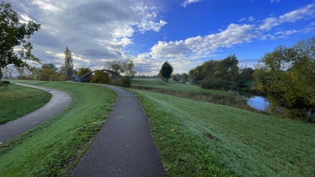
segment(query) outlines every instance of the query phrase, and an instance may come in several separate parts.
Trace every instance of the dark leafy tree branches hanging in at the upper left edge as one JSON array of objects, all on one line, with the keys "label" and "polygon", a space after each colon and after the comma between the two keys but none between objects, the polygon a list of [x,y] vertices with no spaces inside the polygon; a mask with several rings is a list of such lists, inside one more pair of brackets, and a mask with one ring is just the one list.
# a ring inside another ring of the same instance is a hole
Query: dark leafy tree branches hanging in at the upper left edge
[{"label": "dark leafy tree branches hanging in at the upper left edge", "polygon": [[[18,14],[12,10],[11,4],[1,1],[0,29],[0,69],[8,64],[29,68],[29,64],[25,60],[40,62],[31,54],[33,45],[29,41],[31,35],[40,29],[40,24],[33,21],[21,23]],[[21,48],[18,54],[14,52],[14,47]]]}]

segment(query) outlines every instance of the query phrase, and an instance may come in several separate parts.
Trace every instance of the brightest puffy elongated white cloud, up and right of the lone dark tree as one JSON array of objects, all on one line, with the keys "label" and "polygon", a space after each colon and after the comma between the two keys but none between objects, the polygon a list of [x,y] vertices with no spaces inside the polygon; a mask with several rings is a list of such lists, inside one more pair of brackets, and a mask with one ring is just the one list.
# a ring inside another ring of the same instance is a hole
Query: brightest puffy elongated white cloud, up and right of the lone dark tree
[{"label": "brightest puffy elongated white cloud, up and right of the lone dark tree", "polygon": [[205,57],[219,48],[232,47],[240,43],[249,42],[254,25],[237,25],[232,23],[222,32],[207,36],[196,36],[186,40],[159,41],[151,48],[153,59],[181,58],[187,56]]}]

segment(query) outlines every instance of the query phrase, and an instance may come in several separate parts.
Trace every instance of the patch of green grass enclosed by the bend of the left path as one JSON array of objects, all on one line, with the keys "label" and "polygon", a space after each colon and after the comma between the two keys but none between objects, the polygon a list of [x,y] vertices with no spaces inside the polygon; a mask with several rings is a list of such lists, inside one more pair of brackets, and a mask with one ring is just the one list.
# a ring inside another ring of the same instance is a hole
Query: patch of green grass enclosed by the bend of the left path
[{"label": "patch of green grass enclosed by the bend of the left path", "polygon": [[51,94],[35,88],[8,85],[0,91],[0,124],[18,119],[44,106],[51,99]]}]

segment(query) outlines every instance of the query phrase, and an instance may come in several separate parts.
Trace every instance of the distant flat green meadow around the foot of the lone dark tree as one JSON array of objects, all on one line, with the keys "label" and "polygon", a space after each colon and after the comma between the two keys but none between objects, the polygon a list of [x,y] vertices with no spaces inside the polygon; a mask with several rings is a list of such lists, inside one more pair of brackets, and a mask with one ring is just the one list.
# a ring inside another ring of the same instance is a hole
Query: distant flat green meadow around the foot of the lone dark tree
[{"label": "distant flat green meadow around the foot of the lone dark tree", "polygon": [[200,86],[192,85],[192,84],[184,84],[180,82],[174,82],[170,80],[168,83],[163,82],[162,79],[133,79],[131,82],[131,86],[142,86],[149,88],[160,88],[171,91],[186,91],[186,92],[200,92],[200,93],[212,93],[218,95],[229,95],[228,92],[225,91],[216,91],[201,88]]}]

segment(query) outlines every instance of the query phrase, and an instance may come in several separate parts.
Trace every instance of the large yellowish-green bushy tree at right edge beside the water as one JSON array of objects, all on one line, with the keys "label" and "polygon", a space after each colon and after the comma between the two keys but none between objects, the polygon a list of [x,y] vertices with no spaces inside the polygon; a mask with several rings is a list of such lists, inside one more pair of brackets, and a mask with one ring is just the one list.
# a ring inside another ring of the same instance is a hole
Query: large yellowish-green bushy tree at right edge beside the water
[{"label": "large yellowish-green bushy tree at right edge beside the water", "polygon": [[273,108],[310,121],[315,112],[315,37],[265,54],[253,75]]}]

